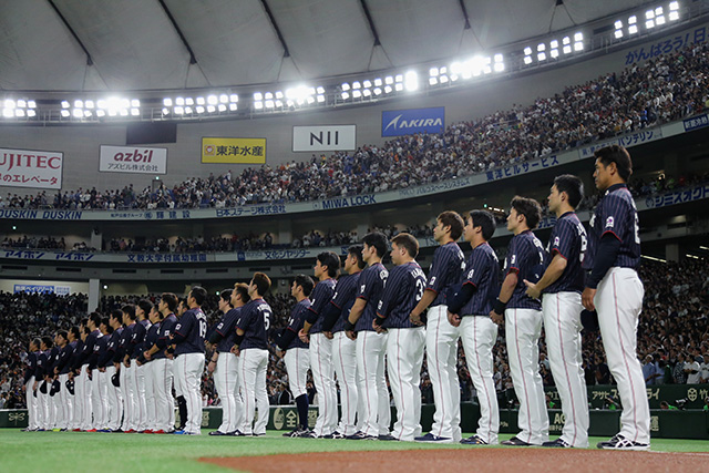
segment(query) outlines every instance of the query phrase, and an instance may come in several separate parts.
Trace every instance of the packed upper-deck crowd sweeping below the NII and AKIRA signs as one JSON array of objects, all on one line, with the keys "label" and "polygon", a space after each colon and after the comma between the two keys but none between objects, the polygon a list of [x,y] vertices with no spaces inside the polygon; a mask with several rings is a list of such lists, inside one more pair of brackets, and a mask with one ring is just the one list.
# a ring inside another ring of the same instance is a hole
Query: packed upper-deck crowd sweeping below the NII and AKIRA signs
[{"label": "packed upper-deck crowd sweeping below the NII and AKIRA signs", "polygon": [[292,203],[369,194],[483,173],[597,140],[697,114],[707,109],[709,45],[693,44],[566,88],[528,106],[456,123],[440,134],[397,137],[354,153],[264,165],[168,187],[79,188],[56,195],[8,194],[0,207],[171,209]]}]

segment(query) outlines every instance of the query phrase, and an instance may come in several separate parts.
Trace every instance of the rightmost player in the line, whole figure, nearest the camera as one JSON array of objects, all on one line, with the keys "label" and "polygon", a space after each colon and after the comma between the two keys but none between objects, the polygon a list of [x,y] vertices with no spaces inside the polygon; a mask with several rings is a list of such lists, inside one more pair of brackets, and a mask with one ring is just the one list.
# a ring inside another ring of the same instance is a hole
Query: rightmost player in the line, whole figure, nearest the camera
[{"label": "rightmost player in the line, whole figure, nearest the camera", "polygon": [[[599,449],[649,450],[650,411],[643,368],[637,358],[638,317],[645,289],[637,275],[640,235],[635,200],[627,188],[633,174],[628,152],[618,145],[597,150],[594,179],[604,193],[590,220],[588,258],[592,268],[582,301],[597,310],[608,369],[623,403],[620,432]],[[620,292],[621,291],[621,292]]]}]

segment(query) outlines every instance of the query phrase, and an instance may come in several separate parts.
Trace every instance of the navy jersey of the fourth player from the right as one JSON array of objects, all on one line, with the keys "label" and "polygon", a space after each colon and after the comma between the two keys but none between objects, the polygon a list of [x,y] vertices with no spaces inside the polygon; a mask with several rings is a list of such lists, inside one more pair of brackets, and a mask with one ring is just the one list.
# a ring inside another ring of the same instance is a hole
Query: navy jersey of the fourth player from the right
[{"label": "navy jersey of the fourth player from the right", "polygon": [[461,310],[460,316],[489,316],[492,302],[500,295],[500,261],[487,243],[473,248],[465,265],[463,285],[473,285],[475,292]]}]

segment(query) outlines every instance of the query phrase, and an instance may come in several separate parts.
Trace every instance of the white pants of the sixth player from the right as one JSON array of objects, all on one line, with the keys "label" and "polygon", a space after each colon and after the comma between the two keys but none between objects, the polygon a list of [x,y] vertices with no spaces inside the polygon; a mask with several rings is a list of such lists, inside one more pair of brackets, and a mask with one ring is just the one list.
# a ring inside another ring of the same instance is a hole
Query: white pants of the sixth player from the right
[{"label": "white pants of the sixth player from the right", "polygon": [[421,364],[425,348],[425,328],[389,329],[387,369],[397,407],[397,422],[391,434],[413,442],[421,435]]}]

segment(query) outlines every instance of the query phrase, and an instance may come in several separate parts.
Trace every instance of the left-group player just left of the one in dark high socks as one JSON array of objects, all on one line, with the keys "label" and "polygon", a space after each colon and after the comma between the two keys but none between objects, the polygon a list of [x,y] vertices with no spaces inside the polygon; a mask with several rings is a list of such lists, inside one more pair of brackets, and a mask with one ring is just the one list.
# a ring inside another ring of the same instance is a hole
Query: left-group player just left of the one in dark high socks
[{"label": "left-group player just left of the one in dark high socks", "polygon": [[[157,430],[153,433],[169,433],[175,428],[175,400],[173,399],[173,360],[167,358],[165,350],[169,343],[169,336],[177,325],[177,296],[164,292],[157,306],[163,319],[155,345],[143,352],[146,360],[152,360],[153,376],[155,379],[155,415]],[[181,421],[186,419],[186,413],[181,413]]]}]

